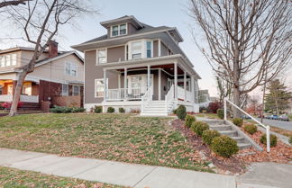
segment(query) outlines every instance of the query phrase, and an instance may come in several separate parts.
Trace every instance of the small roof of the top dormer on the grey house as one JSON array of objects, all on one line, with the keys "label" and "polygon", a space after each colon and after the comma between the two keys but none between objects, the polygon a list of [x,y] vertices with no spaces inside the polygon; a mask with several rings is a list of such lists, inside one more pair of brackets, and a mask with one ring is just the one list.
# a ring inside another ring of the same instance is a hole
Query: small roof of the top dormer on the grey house
[{"label": "small roof of the top dormer on the grey house", "polygon": [[104,26],[105,28],[114,25],[114,24],[119,24],[119,23],[123,23],[123,22],[131,22],[132,25],[136,28],[136,29],[141,29],[143,26],[141,24],[141,22],[139,22],[135,16],[133,15],[125,15],[123,17],[120,18],[116,18],[114,20],[110,20],[110,21],[105,21],[105,22],[100,22],[100,24],[102,26]]}]

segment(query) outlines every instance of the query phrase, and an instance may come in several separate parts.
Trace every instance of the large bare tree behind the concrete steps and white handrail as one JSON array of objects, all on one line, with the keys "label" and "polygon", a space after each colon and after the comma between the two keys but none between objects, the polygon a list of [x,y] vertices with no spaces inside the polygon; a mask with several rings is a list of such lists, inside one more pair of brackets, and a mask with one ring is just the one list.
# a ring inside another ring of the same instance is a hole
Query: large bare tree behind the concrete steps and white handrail
[{"label": "large bare tree behind the concrete steps and white handrail", "polygon": [[[289,0],[190,0],[190,3],[189,14],[206,39],[206,48],[198,40],[196,45],[217,75],[232,82],[236,105],[241,105],[242,94],[274,79],[291,63]],[[236,117],[240,114],[234,109],[233,112]]]}]

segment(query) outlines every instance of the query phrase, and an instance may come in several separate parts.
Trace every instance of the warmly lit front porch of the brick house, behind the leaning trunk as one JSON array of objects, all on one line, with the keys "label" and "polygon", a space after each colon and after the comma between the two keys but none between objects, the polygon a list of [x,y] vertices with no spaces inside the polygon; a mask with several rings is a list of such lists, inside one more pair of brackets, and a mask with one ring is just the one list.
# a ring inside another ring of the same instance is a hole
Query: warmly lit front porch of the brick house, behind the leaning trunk
[{"label": "warmly lit front porch of the brick house, behind the leaning trunk", "polygon": [[[14,100],[15,80],[0,80],[0,102]],[[39,85],[32,81],[23,83],[20,101],[24,103],[39,103]]]}]

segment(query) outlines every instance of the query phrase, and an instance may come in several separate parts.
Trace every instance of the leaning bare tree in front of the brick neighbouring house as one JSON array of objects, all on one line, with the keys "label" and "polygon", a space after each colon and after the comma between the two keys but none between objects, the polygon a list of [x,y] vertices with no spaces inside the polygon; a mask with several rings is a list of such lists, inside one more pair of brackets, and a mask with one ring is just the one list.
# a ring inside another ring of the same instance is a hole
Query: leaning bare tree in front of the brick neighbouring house
[{"label": "leaning bare tree in front of the brick neighbouring house", "polygon": [[34,70],[35,63],[49,46],[50,40],[58,34],[60,25],[72,23],[75,18],[96,12],[87,6],[86,0],[35,0],[28,1],[22,7],[10,8],[10,18],[23,29],[24,40],[34,45],[32,59],[27,65],[19,68],[17,75],[14,101],[9,113],[14,116],[25,76]]}]

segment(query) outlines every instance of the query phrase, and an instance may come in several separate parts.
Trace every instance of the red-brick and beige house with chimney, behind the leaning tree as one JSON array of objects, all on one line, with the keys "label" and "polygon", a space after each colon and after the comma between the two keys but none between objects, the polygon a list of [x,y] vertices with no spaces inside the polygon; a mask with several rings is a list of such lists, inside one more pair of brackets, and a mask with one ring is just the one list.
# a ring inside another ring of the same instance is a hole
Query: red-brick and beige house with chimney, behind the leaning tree
[{"label": "red-brick and beige house with chimney, behind the leaning tree", "polygon": [[[0,102],[13,101],[17,73],[29,63],[33,51],[24,47],[0,50]],[[76,51],[58,51],[58,43],[50,41],[34,71],[25,77],[20,101],[82,106],[83,83],[83,58]]]}]

